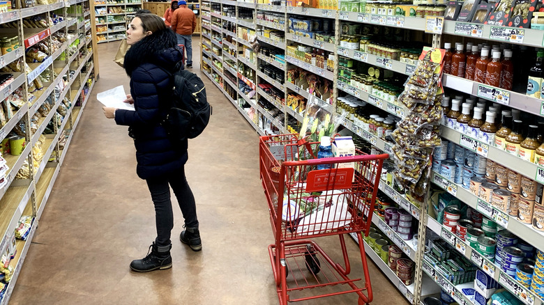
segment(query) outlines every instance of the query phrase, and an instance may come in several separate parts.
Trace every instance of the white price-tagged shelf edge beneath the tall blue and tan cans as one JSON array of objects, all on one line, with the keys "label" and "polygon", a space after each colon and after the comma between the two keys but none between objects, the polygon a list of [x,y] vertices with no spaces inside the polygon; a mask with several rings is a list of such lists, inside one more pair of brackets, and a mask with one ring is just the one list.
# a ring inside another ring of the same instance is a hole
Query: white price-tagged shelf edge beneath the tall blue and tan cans
[{"label": "white price-tagged shelf edge beneath the tall blue and tan cans", "polygon": [[468,189],[464,189],[461,185],[455,184],[455,182],[448,180],[439,173],[432,172],[432,182],[439,186],[441,189],[448,191],[448,193],[457,197],[460,201],[469,205],[469,207],[478,210],[485,217],[493,219],[502,228],[506,228],[517,236],[522,236],[524,240],[530,242],[534,247],[538,249],[544,249],[544,234],[535,230],[530,224],[523,224],[517,220],[517,217],[511,217],[510,215],[501,212],[494,208],[490,203],[483,201],[478,196],[472,194]]}]

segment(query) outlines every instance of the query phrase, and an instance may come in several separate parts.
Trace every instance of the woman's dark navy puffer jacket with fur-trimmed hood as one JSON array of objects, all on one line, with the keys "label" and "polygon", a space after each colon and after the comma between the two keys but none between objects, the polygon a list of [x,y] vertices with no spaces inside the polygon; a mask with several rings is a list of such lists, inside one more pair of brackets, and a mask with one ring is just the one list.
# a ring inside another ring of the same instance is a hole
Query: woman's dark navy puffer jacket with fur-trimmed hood
[{"label": "woman's dark navy puffer jacket with fur-trimmed hood", "polygon": [[125,70],[130,77],[130,94],[136,111],[118,109],[115,122],[129,126],[136,146],[139,178],[173,173],[187,162],[187,142],[174,148],[160,125],[173,86],[165,70],[173,72],[176,63],[182,59],[176,34],[169,29],[146,36],[125,55]]}]

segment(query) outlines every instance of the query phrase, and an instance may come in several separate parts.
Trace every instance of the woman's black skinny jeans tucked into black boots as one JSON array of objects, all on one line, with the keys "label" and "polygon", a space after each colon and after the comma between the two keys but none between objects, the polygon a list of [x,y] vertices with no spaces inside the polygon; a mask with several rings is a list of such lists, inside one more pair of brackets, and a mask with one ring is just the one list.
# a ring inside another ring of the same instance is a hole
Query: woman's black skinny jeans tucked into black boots
[{"label": "woman's black skinny jeans tucked into black boots", "polygon": [[146,182],[155,205],[155,224],[157,226],[155,243],[158,246],[168,246],[172,243],[170,234],[172,228],[174,228],[174,214],[172,213],[172,201],[170,201],[170,187],[172,187],[176,195],[179,208],[181,208],[183,218],[185,218],[186,227],[196,228],[198,226],[195,196],[192,196],[183,167],[176,173],[165,177],[147,179]]}]

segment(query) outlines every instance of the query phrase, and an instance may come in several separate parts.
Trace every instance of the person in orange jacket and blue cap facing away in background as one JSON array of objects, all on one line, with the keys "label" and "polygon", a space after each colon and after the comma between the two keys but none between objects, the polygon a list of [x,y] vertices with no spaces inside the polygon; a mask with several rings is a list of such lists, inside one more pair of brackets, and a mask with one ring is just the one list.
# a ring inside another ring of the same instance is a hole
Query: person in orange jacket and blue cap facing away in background
[{"label": "person in orange jacket and blue cap facing away in background", "polygon": [[187,68],[192,68],[191,36],[197,28],[197,17],[187,8],[185,0],[179,1],[179,8],[172,14],[172,29],[178,36],[178,45],[183,45],[187,52]]}]

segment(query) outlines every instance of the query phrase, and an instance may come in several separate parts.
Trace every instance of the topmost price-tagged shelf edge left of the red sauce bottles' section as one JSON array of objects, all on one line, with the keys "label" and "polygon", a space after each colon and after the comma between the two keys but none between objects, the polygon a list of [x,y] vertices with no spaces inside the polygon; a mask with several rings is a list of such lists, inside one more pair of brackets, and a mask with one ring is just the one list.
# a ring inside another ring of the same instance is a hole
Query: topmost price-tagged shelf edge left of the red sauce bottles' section
[{"label": "topmost price-tagged shelf edge left of the red sauce bottles' section", "polygon": [[415,31],[425,31],[425,18],[404,17],[404,16],[386,16],[368,13],[339,12],[340,21],[360,22],[365,24],[380,24],[384,26],[394,26]]}]

